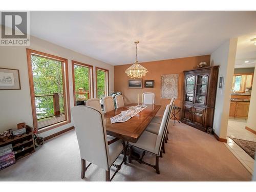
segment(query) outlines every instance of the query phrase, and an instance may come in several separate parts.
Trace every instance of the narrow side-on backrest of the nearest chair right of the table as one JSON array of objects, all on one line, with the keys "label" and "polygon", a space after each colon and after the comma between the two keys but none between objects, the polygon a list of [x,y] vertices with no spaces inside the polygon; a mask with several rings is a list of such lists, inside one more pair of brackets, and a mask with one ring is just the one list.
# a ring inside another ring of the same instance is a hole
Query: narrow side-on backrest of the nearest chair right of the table
[{"label": "narrow side-on backrest of the nearest chair right of the table", "polygon": [[160,129],[159,129],[158,136],[157,136],[157,141],[156,141],[156,149],[155,150],[156,150],[157,155],[160,155],[162,142],[163,142],[163,139],[164,139],[164,136],[165,136],[165,131],[167,129],[167,122],[168,122],[169,112],[170,112],[170,105],[167,104],[166,108],[164,110],[162,122],[161,122],[161,125],[160,125]]}]

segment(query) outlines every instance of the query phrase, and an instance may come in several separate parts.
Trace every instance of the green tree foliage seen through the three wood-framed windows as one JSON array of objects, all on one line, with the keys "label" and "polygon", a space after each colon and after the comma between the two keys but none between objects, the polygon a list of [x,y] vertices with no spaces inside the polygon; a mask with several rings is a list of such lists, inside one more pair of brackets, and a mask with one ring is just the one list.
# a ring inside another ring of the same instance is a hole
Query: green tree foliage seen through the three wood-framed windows
[{"label": "green tree foliage seen through the three wood-framed windows", "polygon": [[[59,94],[60,113],[65,113],[63,97],[62,63],[57,60],[31,55],[35,96]],[[90,69],[74,65],[75,91],[90,90]],[[97,97],[105,96],[104,71],[97,70]],[[78,94],[76,94],[76,97]],[[87,96],[87,94],[86,94]],[[88,97],[88,96],[87,96]],[[88,99],[88,98],[87,98]],[[53,96],[35,97],[37,119],[54,115]]]}]

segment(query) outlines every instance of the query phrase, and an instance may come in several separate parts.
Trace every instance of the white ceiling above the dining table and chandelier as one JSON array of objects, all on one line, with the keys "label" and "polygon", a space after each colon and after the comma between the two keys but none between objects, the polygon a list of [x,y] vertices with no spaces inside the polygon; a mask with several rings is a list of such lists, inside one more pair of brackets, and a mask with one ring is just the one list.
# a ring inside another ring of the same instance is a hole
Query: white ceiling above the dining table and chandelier
[{"label": "white ceiling above the dining table and chandelier", "polygon": [[256,11],[30,12],[31,35],[111,65],[135,61],[135,40],[139,62],[206,55],[255,24]]}]

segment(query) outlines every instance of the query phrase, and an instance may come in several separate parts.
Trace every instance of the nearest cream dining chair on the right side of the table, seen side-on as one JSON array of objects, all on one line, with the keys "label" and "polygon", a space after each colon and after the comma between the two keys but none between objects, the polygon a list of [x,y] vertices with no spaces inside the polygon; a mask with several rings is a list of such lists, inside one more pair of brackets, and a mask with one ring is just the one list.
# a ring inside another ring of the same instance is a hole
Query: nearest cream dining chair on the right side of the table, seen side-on
[{"label": "nearest cream dining chair on the right side of the table, seen side-on", "polygon": [[[136,143],[132,143],[132,142],[129,143],[129,145],[130,145],[129,146],[129,163],[132,163],[132,158],[131,158],[132,157],[132,147],[140,148],[141,150],[143,150],[143,153],[142,153],[141,158],[138,160],[138,162],[155,168],[157,174],[160,174],[159,156],[161,154],[161,146],[162,146],[162,142],[164,140],[164,134],[166,132],[166,123],[168,120],[167,118],[168,118],[168,113],[170,110],[169,108],[170,108],[170,105],[167,104],[165,111],[164,111],[164,115],[163,115],[163,119],[162,119],[162,122],[160,125],[158,135],[151,133],[151,132],[144,131]],[[156,164],[155,165],[152,165],[150,163],[143,161],[143,157],[146,152],[151,153],[156,156]]]}]

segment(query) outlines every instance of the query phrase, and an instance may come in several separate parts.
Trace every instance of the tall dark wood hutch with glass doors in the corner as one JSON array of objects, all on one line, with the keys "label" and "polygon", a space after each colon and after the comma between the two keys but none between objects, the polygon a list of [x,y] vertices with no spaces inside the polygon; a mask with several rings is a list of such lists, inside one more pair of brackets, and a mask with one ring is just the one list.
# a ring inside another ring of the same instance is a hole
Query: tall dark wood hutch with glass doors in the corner
[{"label": "tall dark wood hutch with glass doors in the corner", "polygon": [[206,132],[212,128],[219,66],[184,71],[182,122]]}]

